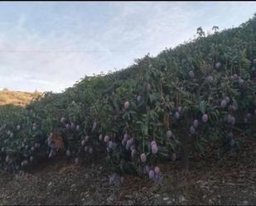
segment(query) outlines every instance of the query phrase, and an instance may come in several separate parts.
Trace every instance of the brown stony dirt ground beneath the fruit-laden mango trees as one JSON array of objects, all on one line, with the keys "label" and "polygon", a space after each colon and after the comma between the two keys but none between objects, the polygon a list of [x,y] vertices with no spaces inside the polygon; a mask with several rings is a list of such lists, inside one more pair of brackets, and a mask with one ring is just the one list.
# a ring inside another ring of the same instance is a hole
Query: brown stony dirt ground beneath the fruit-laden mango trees
[{"label": "brown stony dirt ground beneath the fruit-laden mango trees", "polygon": [[110,185],[104,160],[90,165],[46,161],[20,174],[2,173],[0,204],[256,205],[256,141],[244,141],[237,157],[194,159],[186,173],[179,161],[162,163],[162,186],[131,175],[119,187]]}]

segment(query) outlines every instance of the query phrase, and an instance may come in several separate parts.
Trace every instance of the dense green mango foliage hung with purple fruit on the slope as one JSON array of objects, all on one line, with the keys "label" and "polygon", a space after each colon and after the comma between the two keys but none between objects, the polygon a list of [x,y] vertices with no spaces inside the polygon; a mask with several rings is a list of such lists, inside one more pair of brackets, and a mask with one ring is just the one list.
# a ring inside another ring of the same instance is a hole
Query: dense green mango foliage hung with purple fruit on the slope
[{"label": "dense green mango foliage hung with purple fruit on the slope", "polygon": [[27,108],[0,108],[2,166],[19,170],[42,152],[54,158],[55,133],[76,162],[100,154],[118,174],[136,169],[157,182],[157,160],[186,162],[214,142],[233,152],[239,124],[255,126],[256,17],[213,30],[198,28],[194,41],[45,93]]}]

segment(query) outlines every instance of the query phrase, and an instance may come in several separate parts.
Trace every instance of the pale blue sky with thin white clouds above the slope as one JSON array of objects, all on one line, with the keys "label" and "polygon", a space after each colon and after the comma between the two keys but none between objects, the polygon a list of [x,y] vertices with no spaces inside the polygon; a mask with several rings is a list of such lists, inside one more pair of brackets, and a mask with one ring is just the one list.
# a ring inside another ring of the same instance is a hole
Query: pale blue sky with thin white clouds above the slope
[{"label": "pale blue sky with thin white clouds above the slope", "polygon": [[255,12],[256,2],[0,2],[0,89],[59,93]]}]

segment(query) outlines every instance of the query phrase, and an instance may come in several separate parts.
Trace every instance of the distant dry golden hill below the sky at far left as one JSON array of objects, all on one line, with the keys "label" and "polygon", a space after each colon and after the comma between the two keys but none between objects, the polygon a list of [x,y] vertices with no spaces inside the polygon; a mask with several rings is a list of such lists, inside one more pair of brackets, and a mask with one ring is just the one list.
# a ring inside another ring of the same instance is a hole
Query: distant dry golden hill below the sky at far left
[{"label": "distant dry golden hill below the sky at far left", "polygon": [[3,89],[0,91],[0,105],[13,104],[17,106],[26,106],[33,98],[36,98],[39,95],[42,95],[42,93],[28,93]]}]

